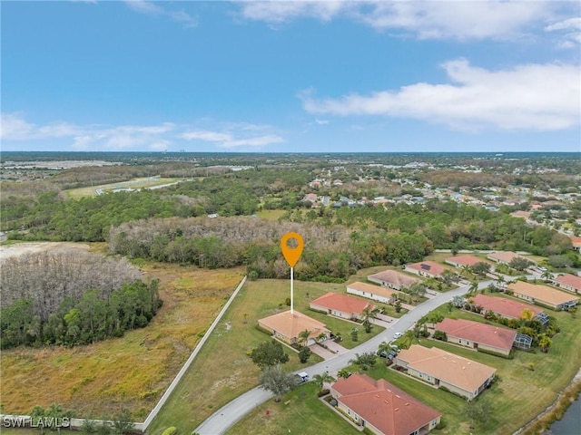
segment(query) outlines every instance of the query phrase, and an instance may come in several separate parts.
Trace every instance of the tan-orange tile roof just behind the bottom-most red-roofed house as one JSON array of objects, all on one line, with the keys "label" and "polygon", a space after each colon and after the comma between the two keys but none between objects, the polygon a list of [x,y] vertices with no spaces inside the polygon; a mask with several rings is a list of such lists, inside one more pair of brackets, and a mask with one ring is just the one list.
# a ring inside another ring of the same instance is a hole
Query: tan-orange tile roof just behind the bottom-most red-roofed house
[{"label": "tan-orange tile roof just behind the bottom-most red-roofed house", "polygon": [[419,372],[433,376],[440,381],[448,382],[465,391],[476,391],[497,369],[480,362],[468,360],[454,353],[448,353],[432,347],[412,344],[409,349],[399,353],[399,360],[408,362],[408,366]]}]

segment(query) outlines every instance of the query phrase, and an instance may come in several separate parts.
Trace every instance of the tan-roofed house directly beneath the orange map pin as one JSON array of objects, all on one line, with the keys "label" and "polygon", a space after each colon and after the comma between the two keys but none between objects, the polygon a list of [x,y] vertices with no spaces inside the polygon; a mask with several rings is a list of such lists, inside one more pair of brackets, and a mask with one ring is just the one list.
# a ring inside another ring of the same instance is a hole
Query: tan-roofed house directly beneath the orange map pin
[{"label": "tan-roofed house directly beneath the orange map pin", "polygon": [[300,333],[305,330],[309,331],[307,345],[314,344],[315,339],[319,339],[321,335],[324,335],[325,339],[330,337],[330,330],[325,324],[297,310],[294,310],[293,313],[285,311],[264,317],[258,321],[258,324],[282,342],[289,344],[298,343]]}]

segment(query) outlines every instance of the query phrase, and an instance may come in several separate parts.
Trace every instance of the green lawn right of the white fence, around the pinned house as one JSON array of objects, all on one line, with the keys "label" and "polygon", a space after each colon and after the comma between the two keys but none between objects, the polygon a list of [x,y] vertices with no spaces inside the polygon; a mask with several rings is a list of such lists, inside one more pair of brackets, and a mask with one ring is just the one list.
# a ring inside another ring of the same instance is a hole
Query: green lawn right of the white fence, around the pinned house
[{"label": "green lawn right of the white fence, around the pinned house", "polygon": [[[358,344],[350,339],[350,330],[355,324],[308,309],[312,299],[329,291],[343,292],[344,288],[345,285],[339,284],[295,281],[295,309],[324,322],[331,331],[340,332],[344,337],[342,344],[353,347]],[[287,280],[247,281],[224,315],[222,324],[216,328],[182,382],[153,420],[149,432],[157,435],[169,426],[176,426],[180,432],[191,431],[212,412],[256,386],[259,369],[251,362],[247,352],[269,340],[267,334],[257,329],[258,319],[288,310],[285,298],[289,294]],[[371,334],[366,334],[360,328],[359,341],[368,339],[381,329],[376,326]],[[285,364],[285,368],[290,371],[299,369],[302,364],[297,354],[291,350],[288,353],[291,361]],[[311,357],[311,362],[314,361],[320,360]]]}]

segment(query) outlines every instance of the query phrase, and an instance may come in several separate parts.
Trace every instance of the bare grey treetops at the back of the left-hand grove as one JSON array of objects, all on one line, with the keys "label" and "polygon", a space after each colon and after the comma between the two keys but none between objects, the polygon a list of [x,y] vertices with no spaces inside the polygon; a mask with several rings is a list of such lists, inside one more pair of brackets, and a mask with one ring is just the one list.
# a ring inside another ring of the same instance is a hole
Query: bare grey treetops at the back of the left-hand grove
[{"label": "bare grey treetops at the back of the left-hand grove", "polygon": [[32,301],[33,314],[41,321],[58,311],[65,299],[78,301],[89,289],[107,300],[123,283],[141,272],[125,258],[79,252],[44,252],[6,258],[2,262],[0,307],[17,300]]}]

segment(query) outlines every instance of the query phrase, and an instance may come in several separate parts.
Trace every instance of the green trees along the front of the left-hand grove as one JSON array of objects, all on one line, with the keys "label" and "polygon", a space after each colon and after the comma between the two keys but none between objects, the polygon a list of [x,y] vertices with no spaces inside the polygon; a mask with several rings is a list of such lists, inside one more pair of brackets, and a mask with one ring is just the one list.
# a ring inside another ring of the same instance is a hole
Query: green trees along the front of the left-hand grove
[{"label": "green trees along the front of the left-hand grove", "polygon": [[1,311],[0,347],[88,344],[145,326],[161,306],[157,281],[123,284],[106,298],[91,289],[66,297],[46,320],[34,312],[34,299],[17,299]]}]

